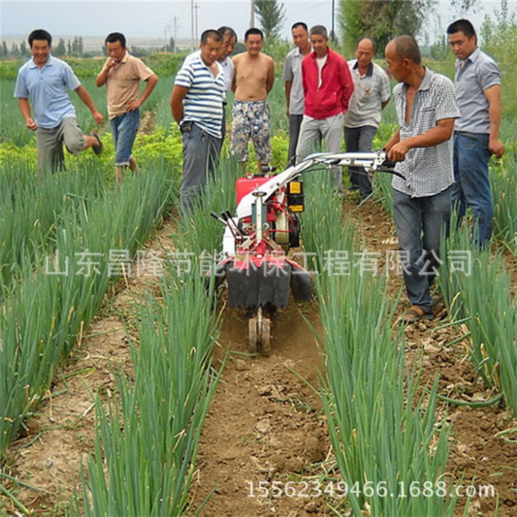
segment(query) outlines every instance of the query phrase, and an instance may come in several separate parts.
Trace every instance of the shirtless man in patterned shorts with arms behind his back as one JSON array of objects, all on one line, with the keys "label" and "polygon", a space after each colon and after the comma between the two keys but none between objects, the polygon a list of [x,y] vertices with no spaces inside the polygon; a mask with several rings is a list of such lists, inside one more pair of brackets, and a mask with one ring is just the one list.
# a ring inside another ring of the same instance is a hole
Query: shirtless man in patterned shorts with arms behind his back
[{"label": "shirtless man in patterned shorts with arms behind his back", "polygon": [[241,163],[247,161],[247,143],[253,141],[259,161],[259,171],[271,162],[270,108],[267,94],[273,88],[274,61],[261,54],[264,34],[260,29],[248,29],[244,37],[246,52],[232,58],[235,92],[232,144],[230,152]]}]

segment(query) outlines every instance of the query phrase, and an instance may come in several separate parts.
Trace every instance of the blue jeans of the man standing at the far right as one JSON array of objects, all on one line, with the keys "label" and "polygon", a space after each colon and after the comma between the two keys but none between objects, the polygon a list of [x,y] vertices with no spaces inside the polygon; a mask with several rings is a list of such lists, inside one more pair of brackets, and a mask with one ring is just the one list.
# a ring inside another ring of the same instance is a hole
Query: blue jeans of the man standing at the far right
[{"label": "blue jeans of the man standing at the far right", "polygon": [[488,181],[488,134],[454,133],[454,189],[452,202],[458,211],[458,223],[467,204],[474,211],[478,242],[485,245],[492,234],[492,199]]}]

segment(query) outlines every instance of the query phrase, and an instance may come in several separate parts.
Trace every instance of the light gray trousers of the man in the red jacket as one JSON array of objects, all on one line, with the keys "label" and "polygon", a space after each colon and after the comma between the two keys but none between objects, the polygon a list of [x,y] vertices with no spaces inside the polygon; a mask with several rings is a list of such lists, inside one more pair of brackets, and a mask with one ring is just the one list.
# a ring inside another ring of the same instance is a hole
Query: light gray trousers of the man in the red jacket
[{"label": "light gray trousers of the man in the red jacket", "polygon": [[[341,134],[343,132],[343,114],[330,116],[328,119],[316,120],[303,115],[303,121],[296,146],[296,163],[302,161],[314,150],[320,138],[325,142],[327,152],[341,152]],[[330,172],[332,188],[343,195],[343,174],[341,167],[332,167]]]}]

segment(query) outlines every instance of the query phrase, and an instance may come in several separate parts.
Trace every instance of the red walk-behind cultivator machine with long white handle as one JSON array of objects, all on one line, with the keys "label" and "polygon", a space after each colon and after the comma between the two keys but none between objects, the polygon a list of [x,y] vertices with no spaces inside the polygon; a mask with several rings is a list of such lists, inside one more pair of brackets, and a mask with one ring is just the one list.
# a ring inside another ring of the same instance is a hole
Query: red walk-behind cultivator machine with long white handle
[{"label": "red walk-behind cultivator machine with long white handle", "polygon": [[236,181],[236,214],[212,216],[225,225],[223,259],[216,267],[225,278],[230,307],[247,307],[250,352],[267,356],[271,345],[271,314],[285,307],[290,290],[296,301],[310,301],[312,277],[288,252],[300,245],[304,210],[301,175],[315,166],[361,167],[365,174],[393,172],[383,152],[312,154],[283,172],[249,174]]}]

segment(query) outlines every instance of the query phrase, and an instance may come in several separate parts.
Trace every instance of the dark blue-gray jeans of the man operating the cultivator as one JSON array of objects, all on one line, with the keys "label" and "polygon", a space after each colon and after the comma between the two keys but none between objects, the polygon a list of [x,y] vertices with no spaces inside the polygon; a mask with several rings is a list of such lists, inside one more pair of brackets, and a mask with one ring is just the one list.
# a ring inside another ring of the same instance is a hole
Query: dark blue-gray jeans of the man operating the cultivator
[{"label": "dark blue-gray jeans of the man operating the cultivator", "polygon": [[413,198],[393,190],[398,247],[409,253],[408,263],[402,258],[407,297],[427,313],[433,310],[429,288],[440,265],[440,232],[449,224],[451,194],[452,186],[435,196]]}]

